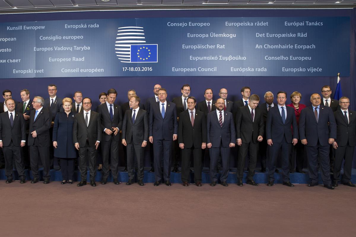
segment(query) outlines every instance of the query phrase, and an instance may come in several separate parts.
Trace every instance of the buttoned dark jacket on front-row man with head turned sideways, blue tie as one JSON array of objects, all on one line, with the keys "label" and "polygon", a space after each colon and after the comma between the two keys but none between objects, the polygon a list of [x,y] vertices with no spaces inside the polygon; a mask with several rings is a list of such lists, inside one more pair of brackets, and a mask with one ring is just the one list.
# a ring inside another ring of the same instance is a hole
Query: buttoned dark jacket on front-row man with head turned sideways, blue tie
[{"label": "buttoned dark jacket on front-row man with head turned sideways, blue tie", "polygon": [[122,121],[122,139],[126,139],[126,143],[142,144],[143,141],[148,142],[148,115],[144,109],[139,109],[135,115],[135,123],[132,124],[132,109],[125,112],[124,120]]}]

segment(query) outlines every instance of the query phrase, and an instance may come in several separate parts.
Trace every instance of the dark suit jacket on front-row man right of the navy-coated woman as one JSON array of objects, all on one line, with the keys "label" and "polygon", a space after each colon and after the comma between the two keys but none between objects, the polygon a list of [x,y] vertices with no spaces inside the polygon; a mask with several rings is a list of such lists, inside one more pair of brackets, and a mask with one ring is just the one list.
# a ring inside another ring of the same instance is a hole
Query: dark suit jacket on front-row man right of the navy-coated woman
[{"label": "dark suit jacket on front-row man right of the navy-coated woman", "polygon": [[90,111],[89,124],[85,123],[84,111],[74,115],[73,142],[79,143],[79,147],[84,147],[89,142],[89,146],[95,147],[96,141],[101,141],[100,114]]}]

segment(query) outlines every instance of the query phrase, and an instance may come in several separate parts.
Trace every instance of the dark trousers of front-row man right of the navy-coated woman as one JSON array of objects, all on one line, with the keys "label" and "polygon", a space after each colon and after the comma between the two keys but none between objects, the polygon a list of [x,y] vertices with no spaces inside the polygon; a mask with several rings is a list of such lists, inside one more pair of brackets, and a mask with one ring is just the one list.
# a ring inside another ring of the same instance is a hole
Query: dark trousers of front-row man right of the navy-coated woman
[{"label": "dark trousers of front-row man right of the navy-coated woman", "polygon": [[[89,146],[89,142],[84,147],[79,147],[79,171],[82,181],[87,180],[87,163],[89,160],[90,181],[95,181],[96,176],[96,149],[95,146]],[[87,158],[88,157],[88,158]]]}]

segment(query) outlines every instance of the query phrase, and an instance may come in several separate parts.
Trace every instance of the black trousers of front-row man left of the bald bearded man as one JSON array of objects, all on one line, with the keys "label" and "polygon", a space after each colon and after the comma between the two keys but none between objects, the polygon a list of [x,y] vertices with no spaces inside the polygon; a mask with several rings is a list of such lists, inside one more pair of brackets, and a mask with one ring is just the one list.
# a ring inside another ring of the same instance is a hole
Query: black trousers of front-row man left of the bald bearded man
[{"label": "black trousers of front-row man left of the bald bearded man", "polygon": [[182,182],[190,181],[190,157],[193,152],[194,160],[194,182],[201,182],[201,147],[185,147],[182,150]]}]

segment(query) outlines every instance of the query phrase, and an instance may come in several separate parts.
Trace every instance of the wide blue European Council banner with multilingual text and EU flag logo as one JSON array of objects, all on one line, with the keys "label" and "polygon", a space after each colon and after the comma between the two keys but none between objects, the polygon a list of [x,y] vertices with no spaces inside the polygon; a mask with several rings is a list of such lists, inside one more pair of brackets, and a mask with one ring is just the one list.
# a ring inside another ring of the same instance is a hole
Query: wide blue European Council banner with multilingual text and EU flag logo
[{"label": "wide blue European Council banner with multilingual text and EU flag logo", "polygon": [[341,16],[4,22],[0,78],[347,77],[350,32]]}]

